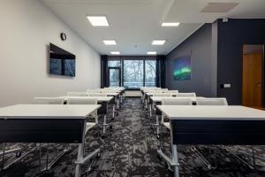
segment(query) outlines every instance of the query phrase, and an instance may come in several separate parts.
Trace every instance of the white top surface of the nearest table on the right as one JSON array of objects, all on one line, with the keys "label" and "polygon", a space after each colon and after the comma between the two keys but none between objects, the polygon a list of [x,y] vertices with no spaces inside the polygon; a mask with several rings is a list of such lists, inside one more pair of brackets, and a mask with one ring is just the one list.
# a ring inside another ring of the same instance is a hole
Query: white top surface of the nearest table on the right
[{"label": "white top surface of the nearest table on the right", "polygon": [[157,105],[169,119],[265,120],[265,112],[234,105]]}]

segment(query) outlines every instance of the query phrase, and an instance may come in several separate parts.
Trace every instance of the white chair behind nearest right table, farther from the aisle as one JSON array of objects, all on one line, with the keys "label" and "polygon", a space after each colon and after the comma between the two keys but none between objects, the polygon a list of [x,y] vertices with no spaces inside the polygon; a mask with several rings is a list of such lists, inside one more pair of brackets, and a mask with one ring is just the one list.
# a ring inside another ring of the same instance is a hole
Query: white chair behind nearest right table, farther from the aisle
[{"label": "white chair behind nearest right table, farther from the aisle", "polygon": [[[196,99],[196,104],[198,106],[200,106],[200,105],[213,105],[213,106],[215,106],[215,105],[223,105],[223,106],[228,105],[226,98],[197,98]],[[203,146],[203,147],[205,147],[205,146]],[[217,148],[216,148],[216,146],[214,147],[214,150],[215,150],[215,165],[211,165],[210,164],[208,159],[205,158],[202,155],[202,153],[199,150],[199,148],[200,148],[199,146],[198,146],[198,148],[196,148],[195,146],[191,146],[191,150],[193,151],[193,153],[198,158],[200,158],[201,161],[205,165],[207,165],[208,169],[212,169],[212,168],[215,169],[217,167]],[[211,148],[210,147],[207,147],[207,148],[208,148],[209,155],[211,155]]]}]

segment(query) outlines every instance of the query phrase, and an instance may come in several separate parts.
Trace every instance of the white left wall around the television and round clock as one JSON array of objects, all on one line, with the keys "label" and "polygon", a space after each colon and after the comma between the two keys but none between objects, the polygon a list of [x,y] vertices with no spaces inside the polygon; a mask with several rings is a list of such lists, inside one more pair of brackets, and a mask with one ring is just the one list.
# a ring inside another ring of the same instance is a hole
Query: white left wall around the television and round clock
[{"label": "white left wall around the television and round clock", "polygon": [[[76,55],[76,77],[49,76],[49,42]],[[62,20],[37,0],[0,0],[0,107],[99,87],[100,55]]]}]

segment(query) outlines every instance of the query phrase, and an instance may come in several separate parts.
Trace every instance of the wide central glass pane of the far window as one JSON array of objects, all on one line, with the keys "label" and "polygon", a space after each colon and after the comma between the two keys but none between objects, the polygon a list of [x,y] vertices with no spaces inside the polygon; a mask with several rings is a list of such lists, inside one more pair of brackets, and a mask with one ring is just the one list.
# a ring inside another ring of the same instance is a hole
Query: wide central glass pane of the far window
[{"label": "wide central glass pane of the far window", "polygon": [[138,89],[143,87],[143,60],[124,60],[124,87]]}]

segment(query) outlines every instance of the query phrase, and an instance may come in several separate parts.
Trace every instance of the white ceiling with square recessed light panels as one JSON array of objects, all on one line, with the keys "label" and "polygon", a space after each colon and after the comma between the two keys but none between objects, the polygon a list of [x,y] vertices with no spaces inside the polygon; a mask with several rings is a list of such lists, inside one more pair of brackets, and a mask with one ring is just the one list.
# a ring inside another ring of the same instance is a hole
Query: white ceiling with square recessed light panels
[{"label": "white ceiling with square recessed light panels", "polygon": [[[168,54],[204,23],[228,18],[265,18],[265,0],[41,0],[100,54]],[[201,12],[208,3],[239,3],[230,12]],[[87,15],[106,15],[110,27],[92,27]],[[161,27],[162,22],[180,22]],[[115,46],[102,40],[114,39]],[[153,46],[165,39],[163,46]]]}]

